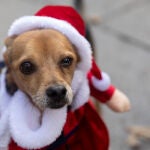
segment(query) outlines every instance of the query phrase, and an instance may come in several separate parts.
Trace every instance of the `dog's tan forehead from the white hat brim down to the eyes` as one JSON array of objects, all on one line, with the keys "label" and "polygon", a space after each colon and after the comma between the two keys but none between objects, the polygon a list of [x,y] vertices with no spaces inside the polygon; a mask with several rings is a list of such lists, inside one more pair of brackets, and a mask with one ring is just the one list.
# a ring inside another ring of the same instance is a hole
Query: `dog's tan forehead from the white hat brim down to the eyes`
[{"label": "dog's tan forehead from the white hat brim down to the eyes", "polygon": [[14,40],[12,59],[19,64],[24,60],[56,61],[65,56],[76,58],[76,50],[70,41],[55,30],[35,30],[23,33]]}]

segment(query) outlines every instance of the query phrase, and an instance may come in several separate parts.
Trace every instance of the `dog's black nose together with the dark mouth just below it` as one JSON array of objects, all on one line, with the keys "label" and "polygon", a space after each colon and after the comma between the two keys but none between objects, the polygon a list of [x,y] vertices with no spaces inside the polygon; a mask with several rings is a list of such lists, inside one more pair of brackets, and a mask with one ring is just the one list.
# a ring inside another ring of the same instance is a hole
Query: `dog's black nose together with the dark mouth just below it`
[{"label": "dog's black nose together with the dark mouth just below it", "polygon": [[48,107],[61,108],[68,103],[67,89],[63,85],[51,86],[46,90]]}]

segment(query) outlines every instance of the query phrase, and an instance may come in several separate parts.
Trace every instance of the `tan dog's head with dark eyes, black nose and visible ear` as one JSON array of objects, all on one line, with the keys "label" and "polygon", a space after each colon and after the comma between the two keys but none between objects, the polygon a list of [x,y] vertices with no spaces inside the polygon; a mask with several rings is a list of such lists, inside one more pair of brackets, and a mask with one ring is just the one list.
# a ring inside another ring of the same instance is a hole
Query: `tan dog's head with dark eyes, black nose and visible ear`
[{"label": "tan dog's head with dark eyes, black nose and visible ear", "polygon": [[79,61],[75,47],[60,32],[32,30],[6,39],[7,90],[25,92],[39,109],[72,101],[71,81]]}]

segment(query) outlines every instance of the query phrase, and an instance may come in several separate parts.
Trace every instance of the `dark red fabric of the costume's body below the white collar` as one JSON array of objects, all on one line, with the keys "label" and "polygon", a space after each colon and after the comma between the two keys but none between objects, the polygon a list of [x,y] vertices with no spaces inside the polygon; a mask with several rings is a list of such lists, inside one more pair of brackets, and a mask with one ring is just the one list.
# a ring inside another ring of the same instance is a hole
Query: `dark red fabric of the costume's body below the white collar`
[{"label": "dark red fabric of the costume's body below the white collar", "polygon": [[[109,138],[107,129],[90,102],[74,113],[68,113],[64,135],[67,135],[77,124],[79,125],[77,131],[65,144],[55,150],[66,150],[66,146],[71,150],[108,150]],[[11,142],[9,150],[25,149]],[[41,150],[46,150],[46,148]]]}]

